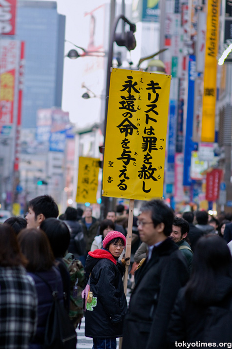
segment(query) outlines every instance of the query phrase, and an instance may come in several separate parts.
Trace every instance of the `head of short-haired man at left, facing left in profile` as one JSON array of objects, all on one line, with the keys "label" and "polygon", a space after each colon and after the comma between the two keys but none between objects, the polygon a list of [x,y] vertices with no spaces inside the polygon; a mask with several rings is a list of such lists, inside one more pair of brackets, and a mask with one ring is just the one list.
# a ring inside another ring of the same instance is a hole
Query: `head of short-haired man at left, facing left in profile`
[{"label": "head of short-haired man at left, facing left in profile", "polygon": [[59,209],[50,195],[37,196],[28,203],[27,228],[39,228],[46,218],[57,218]]}]

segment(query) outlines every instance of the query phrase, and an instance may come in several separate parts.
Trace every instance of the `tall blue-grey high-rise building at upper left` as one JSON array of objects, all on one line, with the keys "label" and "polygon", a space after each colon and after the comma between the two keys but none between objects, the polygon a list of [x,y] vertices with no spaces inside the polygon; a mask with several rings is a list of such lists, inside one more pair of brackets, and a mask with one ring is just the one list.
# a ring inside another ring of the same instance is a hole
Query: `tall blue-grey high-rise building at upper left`
[{"label": "tall blue-grey high-rise building at upper left", "polygon": [[18,1],[15,38],[25,41],[23,128],[36,127],[38,109],[61,107],[64,32],[56,1]]}]

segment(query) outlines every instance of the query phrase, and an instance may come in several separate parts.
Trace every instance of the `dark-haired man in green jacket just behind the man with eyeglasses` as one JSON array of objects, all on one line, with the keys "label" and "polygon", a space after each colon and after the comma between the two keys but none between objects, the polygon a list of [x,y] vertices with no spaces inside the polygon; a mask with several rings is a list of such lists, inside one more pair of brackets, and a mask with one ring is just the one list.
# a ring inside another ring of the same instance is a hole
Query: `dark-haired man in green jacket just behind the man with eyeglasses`
[{"label": "dark-haired man in green jacket just behind the man with eyeglasses", "polygon": [[189,270],[191,272],[193,252],[191,250],[190,245],[187,243],[187,241],[185,241],[189,233],[189,230],[189,223],[185,219],[175,217],[170,237],[172,238],[174,243],[179,247],[179,250],[181,250],[181,252],[184,254],[188,262]]}]

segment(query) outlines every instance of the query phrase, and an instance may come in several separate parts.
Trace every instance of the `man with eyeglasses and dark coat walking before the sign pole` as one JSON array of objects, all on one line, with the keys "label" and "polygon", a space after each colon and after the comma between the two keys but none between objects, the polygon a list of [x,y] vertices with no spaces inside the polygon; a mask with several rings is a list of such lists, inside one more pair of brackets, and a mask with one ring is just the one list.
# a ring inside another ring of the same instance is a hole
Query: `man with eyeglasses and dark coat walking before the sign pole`
[{"label": "man with eyeglasses and dark coat walking before the sign pole", "polygon": [[161,200],[141,207],[140,239],[148,244],[148,256],[135,272],[124,323],[123,349],[165,349],[170,312],[180,287],[189,278],[187,261],[170,239],[174,215]]}]

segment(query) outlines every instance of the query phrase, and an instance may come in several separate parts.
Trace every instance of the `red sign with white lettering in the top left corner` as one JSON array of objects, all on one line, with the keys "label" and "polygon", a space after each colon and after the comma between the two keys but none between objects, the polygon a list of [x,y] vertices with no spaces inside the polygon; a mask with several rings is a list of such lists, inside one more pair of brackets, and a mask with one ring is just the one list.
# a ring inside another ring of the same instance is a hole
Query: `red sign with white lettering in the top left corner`
[{"label": "red sign with white lettering in the top left corner", "polygon": [[0,0],[0,34],[15,35],[16,0]]}]

